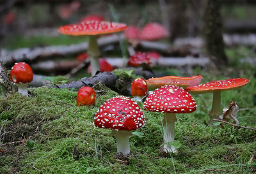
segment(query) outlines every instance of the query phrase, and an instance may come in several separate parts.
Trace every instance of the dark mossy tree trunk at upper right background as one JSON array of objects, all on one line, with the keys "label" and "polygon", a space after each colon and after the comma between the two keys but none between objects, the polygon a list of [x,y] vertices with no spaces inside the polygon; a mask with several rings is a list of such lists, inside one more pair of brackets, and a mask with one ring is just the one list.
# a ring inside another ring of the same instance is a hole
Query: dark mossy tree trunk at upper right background
[{"label": "dark mossy tree trunk at upper right background", "polygon": [[223,25],[221,21],[221,0],[205,0],[203,11],[203,33],[205,48],[216,67],[227,64],[228,59],[224,52]]}]

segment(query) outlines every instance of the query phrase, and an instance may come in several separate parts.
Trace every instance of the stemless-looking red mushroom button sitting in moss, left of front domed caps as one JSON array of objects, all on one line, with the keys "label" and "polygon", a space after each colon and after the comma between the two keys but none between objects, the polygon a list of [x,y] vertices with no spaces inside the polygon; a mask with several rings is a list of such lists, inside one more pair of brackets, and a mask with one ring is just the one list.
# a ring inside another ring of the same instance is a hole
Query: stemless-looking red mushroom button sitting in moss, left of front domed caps
[{"label": "stemless-looking red mushroom button sitting in moss, left of front domed caps", "polygon": [[81,87],[77,92],[76,98],[77,106],[90,106],[95,105],[95,91],[92,87]]}]

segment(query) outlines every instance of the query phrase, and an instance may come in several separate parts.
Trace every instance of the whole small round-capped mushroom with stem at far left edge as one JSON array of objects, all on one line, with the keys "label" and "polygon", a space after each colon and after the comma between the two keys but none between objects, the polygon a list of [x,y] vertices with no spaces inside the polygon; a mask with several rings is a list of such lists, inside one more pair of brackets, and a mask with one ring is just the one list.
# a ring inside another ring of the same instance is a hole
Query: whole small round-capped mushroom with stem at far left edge
[{"label": "whole small round-capped mushroom with stem at far left edge", "polygon": [[28,96],[28,83],[33,80],[33,71],[29,64],[18,62],[12,67],[10,78],[13,83],[17,83],[18,92],[23,96]]}]

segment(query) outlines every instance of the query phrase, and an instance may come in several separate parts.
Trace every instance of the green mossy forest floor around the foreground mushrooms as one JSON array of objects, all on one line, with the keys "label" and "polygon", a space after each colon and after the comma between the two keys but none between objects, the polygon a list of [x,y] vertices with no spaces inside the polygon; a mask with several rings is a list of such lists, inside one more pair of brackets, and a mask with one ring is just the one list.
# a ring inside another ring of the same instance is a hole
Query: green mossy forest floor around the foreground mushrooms
[{"label": "green mossy forest floor around the foreground mushrooms", "polygon": [[[193,71],[204,76],[203,83],[249,78],[245,87],[221,93],[221,108],[236,102],[241,125],[249,127],[256,127],[253,73],[253,67],[236,61],[221,73]],[[93,126],[100,105],[118,94],[102,85],[95,91],[95,106],[76,106],[76,91],[49,87],[29,89],[28,98],[17,93],[0,97],[0,173],[256,173],[255,131],[204,124],[211,94],[193,95],[196,112],[177,115],[178,154],[163,154],[159,148],[163,114],[143,110],[146,124],[138,131],[144,135],[132,136],[131,156],[120,158],[111,131]]]}]

